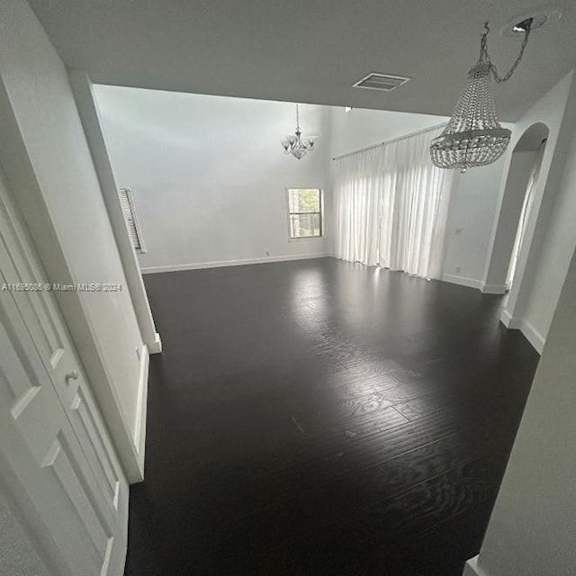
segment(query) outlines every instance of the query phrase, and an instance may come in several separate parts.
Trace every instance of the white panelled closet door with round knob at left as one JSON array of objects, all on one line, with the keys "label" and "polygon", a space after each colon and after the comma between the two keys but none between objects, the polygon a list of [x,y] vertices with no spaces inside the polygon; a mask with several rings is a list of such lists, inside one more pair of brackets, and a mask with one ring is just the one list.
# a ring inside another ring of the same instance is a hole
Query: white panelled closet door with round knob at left
[{"label": "white panelled closet door with round knob at left", "polygon": [[46,282],[0,169],[0,486],[55,574],[119,576],[128,484]]}]

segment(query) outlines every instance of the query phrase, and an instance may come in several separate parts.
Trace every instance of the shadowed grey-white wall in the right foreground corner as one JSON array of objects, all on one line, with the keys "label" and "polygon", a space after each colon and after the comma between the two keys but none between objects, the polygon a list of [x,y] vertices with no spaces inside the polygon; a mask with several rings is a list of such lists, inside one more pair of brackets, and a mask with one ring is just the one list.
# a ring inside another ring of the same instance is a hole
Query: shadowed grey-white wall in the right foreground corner
[{"label": "shadowed grey-white wall in the right foreground corner", "polygon": [[[573,175],[573,168],[570,170]],[[574,334],[576,256],[572,257],[518,436],[492,510],[477,559],[479,570],[467,573],[476,572],[486,576],[568,576],[574,573]]]}]

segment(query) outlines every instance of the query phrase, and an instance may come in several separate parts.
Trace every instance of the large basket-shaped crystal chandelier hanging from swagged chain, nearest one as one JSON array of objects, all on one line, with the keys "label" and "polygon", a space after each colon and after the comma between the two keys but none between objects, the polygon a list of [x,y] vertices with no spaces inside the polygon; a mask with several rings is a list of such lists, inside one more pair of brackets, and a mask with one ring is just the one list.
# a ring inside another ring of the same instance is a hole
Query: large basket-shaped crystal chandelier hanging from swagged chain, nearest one
[{"label": "large basket-shaped crystal chandelier hanging from swagged chain, nearest one", "polygon": [[455,105],[445,130],[432,140],[430,156],[439,168],[459,168],[465,172],[473,166],[485,166],[498,160],[509,145],[510,130],[502,128],[496,118],[491,76],[496,82],[506,82],[518,67],[532,28],[532,18],[514,27],[524,33],[516,62],[506,76],[500,77],[488,55],[488,23],[484,23],[480,58],[468,72],[468,82]]}]

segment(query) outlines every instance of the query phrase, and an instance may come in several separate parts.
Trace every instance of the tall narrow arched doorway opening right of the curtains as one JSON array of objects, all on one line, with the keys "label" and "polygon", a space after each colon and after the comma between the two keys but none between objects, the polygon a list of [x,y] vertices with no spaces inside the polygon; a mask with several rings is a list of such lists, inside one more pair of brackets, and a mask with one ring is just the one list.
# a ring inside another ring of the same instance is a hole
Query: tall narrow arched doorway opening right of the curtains
[{"label": "tall narrow arched doorway opening right of the curtains", "polygon": [[537,122],[512,152],[484,292],[505,293],[514,283],[518,253],[534,200],[548,127]]}]

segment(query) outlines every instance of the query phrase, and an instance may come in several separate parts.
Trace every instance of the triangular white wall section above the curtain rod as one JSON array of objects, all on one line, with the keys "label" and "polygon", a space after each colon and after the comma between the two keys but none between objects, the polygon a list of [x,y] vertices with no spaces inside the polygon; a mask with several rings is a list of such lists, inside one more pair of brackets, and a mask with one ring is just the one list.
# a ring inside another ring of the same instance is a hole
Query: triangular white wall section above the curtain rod
[{"label": "triangular white wall section above the curtain rod", "polygon": [[346,112],[344,108],[338,106],[332,107],[330,111],[331,157],[356,152],[410,132],[437,126],[448,120],[444,116],[360,108]]}]

